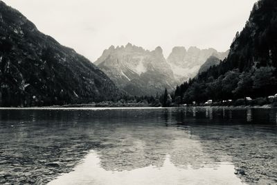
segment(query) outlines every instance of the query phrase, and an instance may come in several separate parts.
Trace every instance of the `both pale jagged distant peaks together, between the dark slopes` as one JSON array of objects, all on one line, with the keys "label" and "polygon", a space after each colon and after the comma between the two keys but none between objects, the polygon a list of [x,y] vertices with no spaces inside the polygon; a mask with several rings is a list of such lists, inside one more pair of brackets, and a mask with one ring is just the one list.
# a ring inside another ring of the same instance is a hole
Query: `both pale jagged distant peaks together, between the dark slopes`
[{"label": "both pale jagged distant peaks together, between the dark slopes", "polygon": [[134,96],[154,95],[193,78],[211,56],[223,60],[229,51],[175,47],[166,59],[161,47],[148,51],[128,43],[110,46],[94,62],[120,89]]}]

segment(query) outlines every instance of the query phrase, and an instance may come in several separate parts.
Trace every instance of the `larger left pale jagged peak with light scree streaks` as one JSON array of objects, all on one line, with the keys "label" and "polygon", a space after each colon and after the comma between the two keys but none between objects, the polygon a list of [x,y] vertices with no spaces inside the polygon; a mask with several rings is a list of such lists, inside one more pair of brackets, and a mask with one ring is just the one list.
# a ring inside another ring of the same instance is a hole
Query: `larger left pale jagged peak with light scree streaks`
[{"label": "larger left pale jagged peak with light scree streaks", "polygon": [[132,44],[111,46],[95,64],[118,87],[134,96],[154,95],[176,84],[161,47],[147,51]]}]

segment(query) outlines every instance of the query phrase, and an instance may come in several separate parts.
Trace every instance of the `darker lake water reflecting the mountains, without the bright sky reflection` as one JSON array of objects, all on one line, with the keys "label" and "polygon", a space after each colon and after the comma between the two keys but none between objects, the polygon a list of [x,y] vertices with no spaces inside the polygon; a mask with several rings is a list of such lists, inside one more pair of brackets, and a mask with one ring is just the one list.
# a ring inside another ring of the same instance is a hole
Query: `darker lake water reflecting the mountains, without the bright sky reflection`
[{"label": "darker lake water reflecting the mountains, without the bright sky reflection", "polygon": [[19,179],[20,166],[45,183],[96,150],[105,170],[160,167],[170,155],[182,168],[233,161],[249,182],[277,180],[275,109],[1,110],[0,119],[6,178]]}]

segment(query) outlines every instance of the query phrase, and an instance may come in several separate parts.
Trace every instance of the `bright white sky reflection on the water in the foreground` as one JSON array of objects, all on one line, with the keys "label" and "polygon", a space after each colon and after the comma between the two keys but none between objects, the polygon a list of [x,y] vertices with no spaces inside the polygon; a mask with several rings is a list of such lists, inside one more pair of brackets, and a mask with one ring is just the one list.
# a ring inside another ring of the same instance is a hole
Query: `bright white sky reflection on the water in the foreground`
[{"label": "bright white sky reflection on the water in the foreground", "polygon": [[172,164],[170,155],[166,155],[163,166],[147,166],[134,170],[105,170],[101,160],[93,150],[71,173],[63,174],[49,183],[59,185],[102,184],[102,185],[206,185],[206,184],[244,184],[233,173],[231,164],[219,164],[217,168],[179,168]]}]

